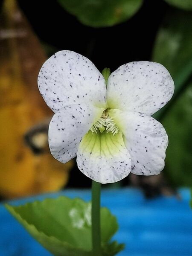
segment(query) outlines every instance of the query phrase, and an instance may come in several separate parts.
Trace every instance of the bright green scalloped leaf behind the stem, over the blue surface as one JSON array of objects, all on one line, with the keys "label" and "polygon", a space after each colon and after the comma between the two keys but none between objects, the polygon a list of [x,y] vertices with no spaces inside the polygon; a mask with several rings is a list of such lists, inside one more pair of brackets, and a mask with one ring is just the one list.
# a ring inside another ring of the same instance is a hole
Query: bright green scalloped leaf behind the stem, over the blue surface
[{"label": "bright green scalloped leaf behind the stem, over the blue surface", "polygon": [[[59,197],[22,206],[6,204],[9,212],[47,250],[56,256],[91,256],[91,204],[79,198]],[[115,216],[101,208],[103,255],[112,256],[122,244],[109,241],[117,231]],[[108,254],[107,254],[108,253]]]}]

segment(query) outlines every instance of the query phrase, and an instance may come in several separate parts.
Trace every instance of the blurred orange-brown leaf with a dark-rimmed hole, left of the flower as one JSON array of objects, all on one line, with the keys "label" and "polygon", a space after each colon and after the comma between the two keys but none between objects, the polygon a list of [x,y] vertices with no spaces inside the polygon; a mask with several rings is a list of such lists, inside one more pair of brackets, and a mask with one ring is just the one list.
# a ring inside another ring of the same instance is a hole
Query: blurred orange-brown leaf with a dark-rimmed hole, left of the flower
[{"label": "blurred orange-brown leaf with a dark-rimmed hole, left of the flower", "polygon": [[[0,194],[55,191],[66,184],[72,163],[59,163],[48,149],[35,154],[24,141],[34,125],[52,116],[37,87],[46,56],[15,0],[4,1],[0,17]],[[45,136],[35,140],[45,138],[48,148]]]}]

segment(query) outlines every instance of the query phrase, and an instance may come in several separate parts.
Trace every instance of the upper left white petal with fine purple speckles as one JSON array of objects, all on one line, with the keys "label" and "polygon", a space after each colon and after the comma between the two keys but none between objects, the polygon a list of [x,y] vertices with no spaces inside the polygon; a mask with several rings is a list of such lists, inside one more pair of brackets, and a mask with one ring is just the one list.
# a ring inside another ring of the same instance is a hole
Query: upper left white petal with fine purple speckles
[{"label": "upper left white petal with fine purple speckles", "polygon": [[45,102],[57,112],[80,102],[105,108],[105,79],[86,57],[71,51],[52,55],[41,67],[38,87]]}]

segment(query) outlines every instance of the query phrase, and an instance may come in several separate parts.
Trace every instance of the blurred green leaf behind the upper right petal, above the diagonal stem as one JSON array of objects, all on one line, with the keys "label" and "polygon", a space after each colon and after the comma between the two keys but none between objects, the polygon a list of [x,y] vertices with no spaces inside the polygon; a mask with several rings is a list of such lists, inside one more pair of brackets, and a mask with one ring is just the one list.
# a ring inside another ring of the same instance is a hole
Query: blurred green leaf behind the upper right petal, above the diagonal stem
[{"label": "blurred green leaf behind the upper right petal, above the diagonal stem", "polygon": [[[192,17],[188,12],[174,10],[163,21],[154,45],[152,60],[163,64],[175,82],[176,98],[192,73]],[[154,117],[160,119],[166,107]]]}]

